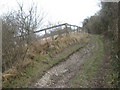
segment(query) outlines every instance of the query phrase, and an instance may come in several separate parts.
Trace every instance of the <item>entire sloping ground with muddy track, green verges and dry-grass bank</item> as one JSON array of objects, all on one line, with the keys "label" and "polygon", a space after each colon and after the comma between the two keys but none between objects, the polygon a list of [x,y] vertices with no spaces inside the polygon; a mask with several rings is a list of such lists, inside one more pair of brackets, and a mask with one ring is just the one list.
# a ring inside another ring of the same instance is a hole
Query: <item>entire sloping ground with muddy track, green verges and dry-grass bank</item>
[{"label": "entire sloping ground with muddy track, green verges and dry-grass bank", "polygon": [[29,62],[21,64],[21,71],[9,70],[9,74],[19,73],[4,77],[3,87],[113,87],[111,62],[102,37],[74,34],[43,47],[34,44],[28,53]]}]

